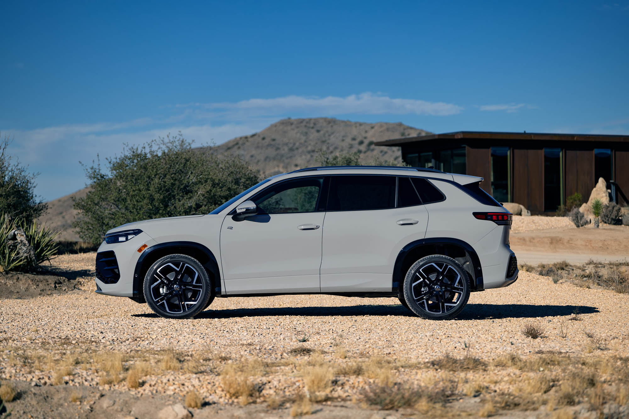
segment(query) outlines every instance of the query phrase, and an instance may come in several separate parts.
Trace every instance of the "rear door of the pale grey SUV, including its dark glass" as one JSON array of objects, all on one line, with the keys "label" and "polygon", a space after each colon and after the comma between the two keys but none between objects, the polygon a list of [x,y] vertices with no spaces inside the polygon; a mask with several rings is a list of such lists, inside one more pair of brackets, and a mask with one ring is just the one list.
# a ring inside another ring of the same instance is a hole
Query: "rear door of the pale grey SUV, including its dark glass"
[{"label": "rear door of the pale grey SUV, including its dark glass", "polygon": [[427,224],[428,212],[408,177],[332,176],[321,292],[390,291],[399,251],[423,239]]}]

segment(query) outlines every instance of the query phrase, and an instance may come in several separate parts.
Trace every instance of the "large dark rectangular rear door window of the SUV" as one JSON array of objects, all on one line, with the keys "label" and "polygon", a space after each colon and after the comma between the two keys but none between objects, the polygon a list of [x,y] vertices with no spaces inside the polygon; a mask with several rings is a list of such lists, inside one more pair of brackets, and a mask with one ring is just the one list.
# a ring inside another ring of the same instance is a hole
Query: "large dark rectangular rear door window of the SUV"
[{"label": "large dark rectangular rear door window of the SUV", "polygon": [[352,211],[395,207],[393,176],[333,176],[328,210]]}]

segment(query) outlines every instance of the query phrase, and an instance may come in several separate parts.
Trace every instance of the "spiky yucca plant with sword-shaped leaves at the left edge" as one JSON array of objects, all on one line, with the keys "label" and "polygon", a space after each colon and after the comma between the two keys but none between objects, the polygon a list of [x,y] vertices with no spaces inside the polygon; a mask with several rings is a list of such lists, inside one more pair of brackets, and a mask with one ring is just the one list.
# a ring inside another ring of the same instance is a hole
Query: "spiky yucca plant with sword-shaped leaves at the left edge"
[{"label": "spiky yucca plant with sword-shaped leaves at the left edge", "polygon": [[[24,231],[28,244],[35,251],[35,266],[19,254],[14,241],[9,241],[11,233],[18,226]],[[28,224],[24,220],[16,223],[3,214],[0,216],[0,271],[32,271],[45,261],[55,258],[58,248],[55,237],[58,234],[58,231],[40,226],[35,220]]]}]

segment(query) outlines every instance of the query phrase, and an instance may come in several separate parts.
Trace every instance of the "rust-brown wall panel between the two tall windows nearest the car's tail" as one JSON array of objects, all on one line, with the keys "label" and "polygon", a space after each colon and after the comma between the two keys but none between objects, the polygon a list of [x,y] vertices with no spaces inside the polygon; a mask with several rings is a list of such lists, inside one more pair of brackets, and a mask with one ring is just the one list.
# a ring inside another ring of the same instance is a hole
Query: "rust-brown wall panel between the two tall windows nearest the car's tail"
[{"label": "rust-brown wall panel between the two tall windows nearest the car's tail", "polygon": [[533,214],[544,210],[543,150],[513,149],[513,202]]}]

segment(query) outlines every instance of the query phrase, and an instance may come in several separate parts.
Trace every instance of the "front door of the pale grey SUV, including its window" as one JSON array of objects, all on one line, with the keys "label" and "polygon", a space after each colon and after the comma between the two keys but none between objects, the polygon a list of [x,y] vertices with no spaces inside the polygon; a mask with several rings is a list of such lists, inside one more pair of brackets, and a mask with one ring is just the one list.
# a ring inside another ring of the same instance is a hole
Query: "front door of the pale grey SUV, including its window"
[{"label": "front door of the pale grey SUV, including its window", "polygon": [[258,214],[221,226],[227,294],[320,291],[323,177],[274,183],[251,200]]}]

